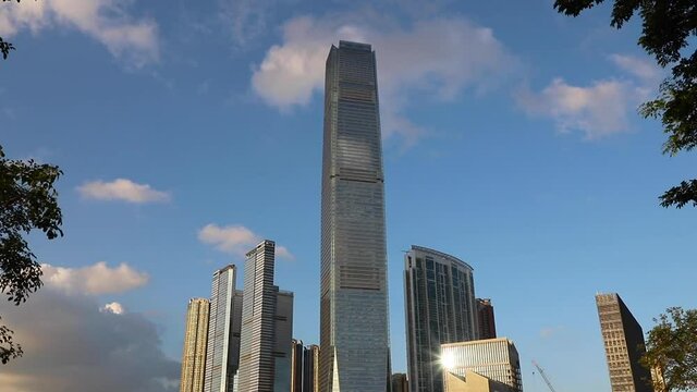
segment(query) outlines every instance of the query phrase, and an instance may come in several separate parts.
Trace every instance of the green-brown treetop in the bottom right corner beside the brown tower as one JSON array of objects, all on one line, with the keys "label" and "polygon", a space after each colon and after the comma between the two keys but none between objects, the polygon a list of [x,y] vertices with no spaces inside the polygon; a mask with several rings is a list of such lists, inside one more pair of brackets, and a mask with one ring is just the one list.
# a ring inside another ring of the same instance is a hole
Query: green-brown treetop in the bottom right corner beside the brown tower
[{"label": "green-brown treetop in the bottom right corner beside the brown tower", "polygon": [[648,333],[644,366],[658,370],[657,392],[697,389],[697,309],[668,308]]}]

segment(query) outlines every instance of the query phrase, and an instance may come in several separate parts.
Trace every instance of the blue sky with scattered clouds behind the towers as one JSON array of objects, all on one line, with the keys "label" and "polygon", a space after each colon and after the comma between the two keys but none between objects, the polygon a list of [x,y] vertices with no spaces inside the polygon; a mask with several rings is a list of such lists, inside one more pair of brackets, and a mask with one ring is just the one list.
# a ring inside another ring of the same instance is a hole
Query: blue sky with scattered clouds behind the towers
[{"label": "blue sky with scattered clouds behind the towers", "polygon": [[295,292],[294,335],[318,342],[323,62],[356,39],[379,68],[393,370],[406,366],[402,252],[417,244],[475,268],[526,391],[546,391],[533,358],[560,390],[609,391],[596,292],[619,292],[645,330],[669,306],[697,307],[697,211],[657,199],[697,158],[662,156],[660,123],[636,113],[665,72],[636,46],[638,24],[614,30],[609,12],[570,19],[549,0],[3,3],[0,35],[17,50],[0,63],[0,143],[64,171],[65,236],[32,237],[47,286],[20,309],[0,305],[28,348],[0,379],[70,385],[37,363],[58,348],[33,330],[39,309],[66,306],[97,335],[149,331],[162,365],[133,382],[172,389],[187,299],[259,238],[285,249],[276,280]]}]

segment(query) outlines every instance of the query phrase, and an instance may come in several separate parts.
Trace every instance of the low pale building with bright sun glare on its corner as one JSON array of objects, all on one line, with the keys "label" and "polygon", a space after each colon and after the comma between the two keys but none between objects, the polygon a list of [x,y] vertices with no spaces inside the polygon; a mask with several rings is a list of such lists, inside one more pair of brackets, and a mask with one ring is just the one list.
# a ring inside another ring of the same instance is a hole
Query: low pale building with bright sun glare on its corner
[{"label": "low pale building with bright sun glare on its corner", "polygon": [[445,376],[463,379],[470,370],[511,387],[513,392],[523,392],[518,352],[505,338],[443,344],[441,364]]}]

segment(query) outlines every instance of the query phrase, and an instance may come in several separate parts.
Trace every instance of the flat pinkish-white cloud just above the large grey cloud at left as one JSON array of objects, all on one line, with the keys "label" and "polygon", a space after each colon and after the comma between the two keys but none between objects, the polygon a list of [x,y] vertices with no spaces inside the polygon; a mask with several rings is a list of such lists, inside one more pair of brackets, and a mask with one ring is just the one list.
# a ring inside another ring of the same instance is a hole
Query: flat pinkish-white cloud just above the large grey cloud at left
[{"label": "flat pinkish-white cloud just above the large grey cloud at left", "polygon": [[137,289],[146,284],[149,277],[126,264],[110,268],[105,261],[83,268],[41,265],[44,283],[66,292],[85,294],[113,294]]}]

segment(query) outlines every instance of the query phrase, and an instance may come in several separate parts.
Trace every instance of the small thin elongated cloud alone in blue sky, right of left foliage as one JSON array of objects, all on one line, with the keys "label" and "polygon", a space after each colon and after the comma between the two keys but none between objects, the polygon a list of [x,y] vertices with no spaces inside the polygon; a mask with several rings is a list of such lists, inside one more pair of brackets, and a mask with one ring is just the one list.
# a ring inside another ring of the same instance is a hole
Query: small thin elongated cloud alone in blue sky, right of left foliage
[{"label": "small thin elongated cloud alone in blue sky, right of left foliage", "polygon": [[77,187],[83,197],[98,200],[124,200],[129,203],[168,201],[167,192],[156,191],[147,184],[117,179],[112,182],[93,181]]}]

